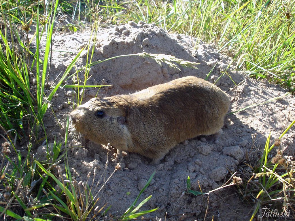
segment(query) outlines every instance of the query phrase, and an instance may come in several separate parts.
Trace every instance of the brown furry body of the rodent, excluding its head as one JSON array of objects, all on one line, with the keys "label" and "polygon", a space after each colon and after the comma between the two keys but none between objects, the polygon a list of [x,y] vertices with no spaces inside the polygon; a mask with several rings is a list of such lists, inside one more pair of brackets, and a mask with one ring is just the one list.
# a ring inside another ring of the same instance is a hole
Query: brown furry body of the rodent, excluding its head
[{"label": "brown furry body of the rodent, excluding its head", "polygon": [[146,152],[154,154],[154,149],[165,152],[186,139],[218,133],[230,105],[227,95],[217,86],[191,76],[131,96],[135,102],[127,121],[136,125],[128,129],[135,146],[146,147],[145,154],[141,153],[145,156]]}]

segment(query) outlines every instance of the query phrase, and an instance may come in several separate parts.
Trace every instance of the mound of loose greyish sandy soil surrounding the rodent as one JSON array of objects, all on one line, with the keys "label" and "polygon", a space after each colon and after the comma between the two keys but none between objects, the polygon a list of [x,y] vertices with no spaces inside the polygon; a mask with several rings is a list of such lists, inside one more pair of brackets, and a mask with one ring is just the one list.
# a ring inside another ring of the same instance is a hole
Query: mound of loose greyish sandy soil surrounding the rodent
[{"label": "mound of loose greyish sandy soil surrounding the rodent", "polygon": [[[209,79],[214,82],[225,71],[216,84],[227,93],[232,101],[229,112],[254,103],[260,104],[228,114],[224,121],[224,134],[219,138],[217,144],[207,143],[203,138],[189,140],[172,149],[158,165],[150,165],[147,158],[129,153],[122,160],[121,170],[114,173],[98,194],[100,197],[98,205],[108,203],[112,205],[109,214],[123,214],[156,170],[150,186],[139,199],[140,202],[145,197],[153,195],[150,201],[141,208],[141,210],[147,210],[159,207],[156,212],[147,216],[152,220],[155,220],[155,217],[165,217],[166,214],[167,220],[202,220],[208,204],[207,218],[209,220],[212,220],[213,215],[221,217],[221,220],[248,220],[253,207],[251,204],[245,204],[238,194],[234,194],[236,192],[233,189],[236,187],[225,188],[210,194],[209,199],[207,199],[208,196],[182,195],[186,190],[186,179],[190,176],[192,189],[199,190],[199,183],[203,192],[221,186],[232,173],[237,171],[238,165],[245,161],[246,151],[250,157],[253,153],[259,156],[269,132],[271,131],[273,140],[294,120],[294,96],[283,96],[286,93],[283,88],[271,85],[267,81],[257,81],[247,77],[237,70],[230,57],[218,53],[214,46],[199,42],[196,38],[168,34],[155,25],[129,22],[118,27],[99,28],[96,34],[97,39],[94,41],[94,33],[91,33],[90,29],[75,33],[56,33],[53,42],[50,85],[54,85],[55,80],[60,79],[60,73],[65,71],[73,57],[89,39],[91,39],[90,44],[95,46],[92,61],[138,52],[162,53],[199,62],[200,64],[197,65],[199,69],[181,67],[179,71],[169,68],[168,65],[161,67],[152,59],[134,56],[112,59],[92,66],[87,81],[87,85],[112,86],[100,90],[99,88],[87,88],[84,92],[80,91],[80,95],[83,95],[82,103],[96,94],[98,97],[105,97],[132,93],[178,77],[193,75],[205,78],[216,65]],[[44,39],[41,45],[45,46]],[[82,53],[76,68],[81,68],[86,64],[87,50]],[[71,70],[71,74],[74,72],[75,70]],[[78,73],[82,81],[84,73],[84,71]],[[69,77],[65,80],[63,85],[73,83],[77,83],[75,75],[74,79]],[[236,86],[236,84],[239,85]],[[50,134],[52,141],[54,137],[60,141],[64,140],[64,119],[73,109],[73,104],[77,103],[77,93],[79,92],[63,87],[58,90],[52,100],[51,108],[58,120],[61,120],[56,126],[57,121],[52,113],[48,112],[45,117],[47,130],[53,131]],[[280,96],[282,98],[263,104],[271,98]],[[294,136],[294,128],[291,128],[281,140],[281,147],[285,149],[286,155],[294,156]],[[112,148],[108,151],[104,146],[106,144],[94,144],[83,138],[70,139],[68,145],[70,146],[69,166],[72,175],[78,181],[86,181],[87,174],[90,171],[93,172],[94,168],[97,168],[97,174],[95,177],[93,173],[91,174],[91,182],[94,179],[96,185],[102,175],[99,186],[93,189],[93,195],[95,195],[103,181],[109,177],[120,161],[119,155]],[[40,148],[39,154],[42,155]],[[107,160],[109,164],[105,169]],[[65,167],[64,164],[60,166]]]}]

